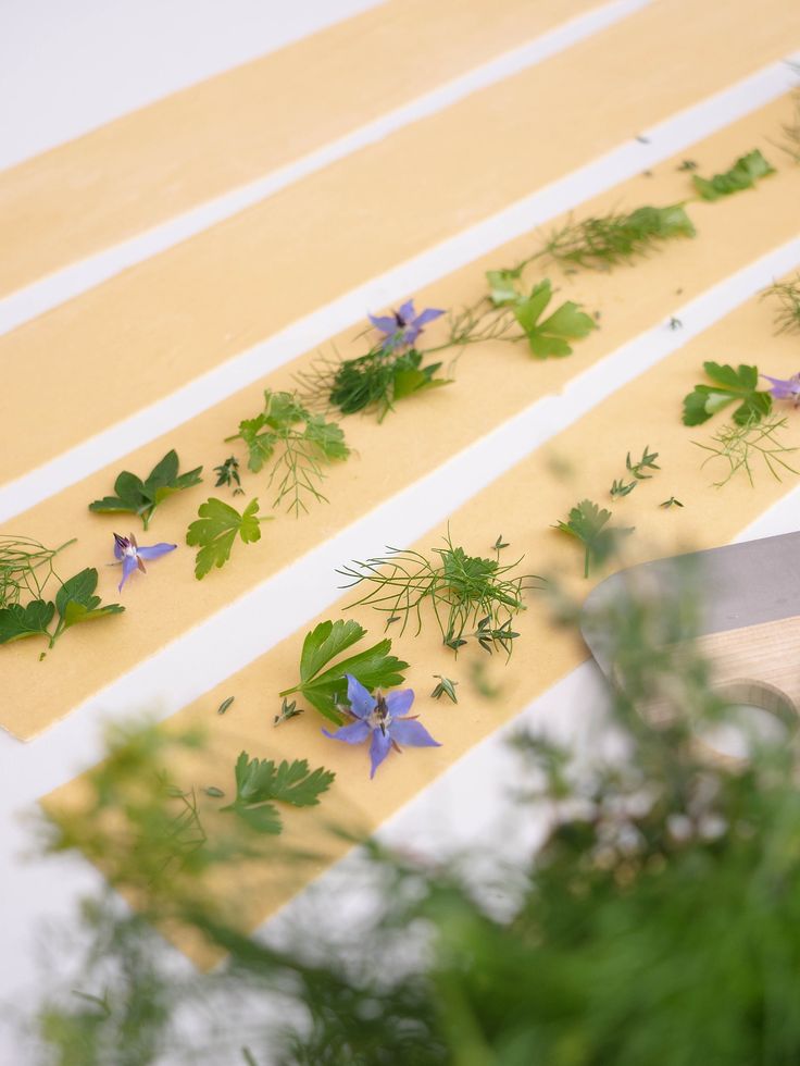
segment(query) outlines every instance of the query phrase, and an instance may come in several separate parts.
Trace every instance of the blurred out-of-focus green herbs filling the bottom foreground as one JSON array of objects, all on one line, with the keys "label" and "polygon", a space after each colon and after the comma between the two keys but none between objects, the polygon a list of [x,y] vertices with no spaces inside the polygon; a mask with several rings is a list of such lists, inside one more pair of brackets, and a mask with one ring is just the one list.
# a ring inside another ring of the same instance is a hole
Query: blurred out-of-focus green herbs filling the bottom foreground
[{"label": "blurred out-of-focus green herbs filling the bottom foreground", "polygon": [[[162,877],[145,918],[87,912],[95,942],[80,996],[73,986],[43,1004],[41,1061],[799,1062],[797,754],[787,736],[751,735],[747,759],[723,760],[698,740],[733,716],[707,665],[665,643],[691,630],[689,590],[700,581],[691,575],[654,604],[633,595],[600,620],[618,681],[608,752],[576,759],[546,736],[517,736],[518,818],[546,813],[549,829],[513,870],[496,868],[491,893],[452,865],[434,869],[372,844],[374,916],[367,907],[353,921],[352,900],[326,897],[314,927],[277,950],[222,921],[184,891],[185,877]],[[139,777],[152,755],[139,745],[127,770]],[[102,820],[71,820],[57,845],[97,856]],[[109,845],[117,884],[163,868],[163,822],[141,811],[135,822],[138,859],[125,863],[124,834]],[[227,862],[210,833],[187,848],[189,869]],[[224,947],[227,964],[176,975],[174,953],[146,926],[165,907]]]}]

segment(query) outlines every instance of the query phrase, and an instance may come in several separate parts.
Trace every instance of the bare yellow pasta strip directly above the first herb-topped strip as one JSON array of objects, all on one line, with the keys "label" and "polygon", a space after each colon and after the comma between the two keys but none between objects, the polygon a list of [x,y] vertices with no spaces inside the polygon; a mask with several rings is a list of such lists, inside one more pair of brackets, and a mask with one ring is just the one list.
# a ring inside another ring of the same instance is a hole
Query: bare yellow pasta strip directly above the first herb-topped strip
[{"label": "bare yellow pasta strip directly above the first herb-topped strip", "polygon": [[749,0],[724,20],[660,0],[26,323],[0,338],[0,365],[18,369],[0,394],[0,481],[798,47],[787,0],[757,20]]}]

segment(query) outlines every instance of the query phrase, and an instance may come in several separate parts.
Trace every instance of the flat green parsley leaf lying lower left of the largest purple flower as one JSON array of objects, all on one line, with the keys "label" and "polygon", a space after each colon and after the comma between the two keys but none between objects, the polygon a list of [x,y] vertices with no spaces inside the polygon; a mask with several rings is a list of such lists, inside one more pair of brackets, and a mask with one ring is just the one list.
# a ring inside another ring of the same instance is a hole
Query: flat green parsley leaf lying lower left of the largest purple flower
[{"label": "flat green parsley leaf lying lower left of the largest purple flower", "polygon": [[277,834],[283,822],[275,803],[313,807],[327,792],[336,774],[318,767],[310,770],[305,759],[275,766],[272,759],[251,759],[242,752],[236,761],[236,800],[221,810],[230,810],[260,833]]}]

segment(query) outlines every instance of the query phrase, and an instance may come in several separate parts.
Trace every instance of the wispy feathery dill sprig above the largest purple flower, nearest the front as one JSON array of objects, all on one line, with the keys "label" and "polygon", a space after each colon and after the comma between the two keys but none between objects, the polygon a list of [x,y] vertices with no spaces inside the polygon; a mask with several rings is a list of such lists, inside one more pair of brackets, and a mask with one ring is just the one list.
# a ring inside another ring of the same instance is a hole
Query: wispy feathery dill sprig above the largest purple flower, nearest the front
[{"label": "wispy feathery dill sprig above the largest purple flower, nearest the front", "polygon": [[526,581],[540,579],[513,574],[522,557],[501,565],[499,546],[496,558],[490,559],[467,555],[453,544],[449,532],[443,541],[445,547],[432,548],[430,555],[387,547],[385,556],[342,567],[337,573],[350,579],[343,587],[370,586],[351,606],[366,605],[386,612],[387,625],[401,621],[401,632],[415,618],[420,633],[423,605],[429,602],[448,647],[458,652],[472,636],[486,652],[501,647],[511,655],[518,636],[511,621],[525,609],[522,595],[529,587]]}]

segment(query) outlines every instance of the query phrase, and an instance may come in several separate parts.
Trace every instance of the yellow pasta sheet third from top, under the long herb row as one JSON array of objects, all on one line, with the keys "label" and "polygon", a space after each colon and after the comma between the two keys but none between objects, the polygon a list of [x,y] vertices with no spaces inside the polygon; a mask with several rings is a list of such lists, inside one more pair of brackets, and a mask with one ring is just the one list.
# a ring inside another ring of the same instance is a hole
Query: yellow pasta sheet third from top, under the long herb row
[{"label": "yellow pasta sheet third from top, under the long herb row", "polygon": [[[758,145],[774,157],[766,138],[776,135],[787,113],[786,100],[771,104],[693,147],[691,156],[703,172],[724,169],[737,154]],[[652,176],[637,177],[585,204],[583,210],[596,213],[620,204],[633,208],[646,200],[678,200],[689,187],[678,164],[678,159],[670,160]],[[665,243],[662,250],[635,268],[622,266],[605,274],[553,275],[561,286],[557,300],[573,298],[588,310],[602,312],[601,327],[586,340],[577,342],[573,356],[541,362],[532,359],[523,346],[476,345],[460,359],[454,384],[401,401],[380,425],[374,416],[346,419],[347,439],[355,454],[346,463],[329,468],[324,492],[332,503],[314,505],[311,513],[300,519],[280,513],[276,521],[262,526],[258,544],[237,542],[227,567],[214,570],[200,582],[193,577],[195,553],[184,544],[185,532],[208,496],[227,498],[226,489],[213,488],[211,468],[232,450],[224,438],[236,432],[241,419],[260,410],[264,383],[18,516],[9,532],[52,545],[77,536],[78,544],[60,560],[60,571],[65,577],[85,566],[98,566],[98,591],[104,602],[118,598],[118,569],[102,565],[112,559],[113,531],[126,534],[133,529],[140,543],[168,541],[180,547],[153,563],[147,577],[137,575],[128,582],[121,597],[127,607],[124,616],[75,628],[43,662],[37,661],[38,647],[33,646],[33,641],[0,648],[4,691],[11,694],[0,706],[0,723],[16,736],[29,739],[536,399],[560,392],[626,340],[659,322],[666,327],[679,303],[800,231],[798,173],[782,169],[757,191],[713,204],[692,203],[690,213],[699,231],[696,239]],[[420,305],[448,307],[472,301],[485,292],[486,269],[513,264],[530,246],[528,235],[498,249],[418,294]],[[534,272],[532,282],[536,276]],[[429,336],[435,339],[435,327],[430,327]],[[343,356],[362,350],[349,337],[337,338],[336,347]],[[752,360],[758,354],[761,361],[761,347],[752,348],[747,358]],[[291,386],[291,372],[307,367],[313,358],[311,354],[284,368],[267,383],[276,388]],[[726,361],[733,356],[722,348],[714,358]],[[167,500],[148,534],[136,529],[140,523],[133,516],[99,516],[87,510],[91,500],[112,491],[120,470],[143,476],[171,447],[178,451],[182,469],[202,463],[205,482]],[[258,496],[262,512],[268,510],[274,489],[266,483],[266,473],[247,475],[247,495],[234,503]],[[391,540],[389,531],[387,537]]]}]

